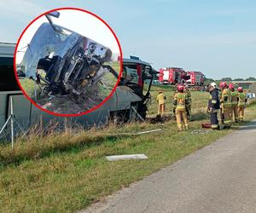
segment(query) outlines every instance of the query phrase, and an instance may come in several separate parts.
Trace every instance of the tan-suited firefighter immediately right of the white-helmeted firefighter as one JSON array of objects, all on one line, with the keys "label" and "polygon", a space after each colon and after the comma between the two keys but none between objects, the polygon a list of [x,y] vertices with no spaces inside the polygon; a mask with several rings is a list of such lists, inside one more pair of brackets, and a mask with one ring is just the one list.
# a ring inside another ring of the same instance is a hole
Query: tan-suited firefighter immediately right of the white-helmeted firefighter
[{"label": "tan-suited firefighter immediately right of the white-helmeted firefighter", "polygon": [[221,89],[220,95],[220,103],[221,103],[221,118],[224,127],[230,128],[231,126],[231,118],[230,118],[230,110],[231,110],[231,92],[228,87],[228,84],[225,82],[221,82],[219,84]]}]

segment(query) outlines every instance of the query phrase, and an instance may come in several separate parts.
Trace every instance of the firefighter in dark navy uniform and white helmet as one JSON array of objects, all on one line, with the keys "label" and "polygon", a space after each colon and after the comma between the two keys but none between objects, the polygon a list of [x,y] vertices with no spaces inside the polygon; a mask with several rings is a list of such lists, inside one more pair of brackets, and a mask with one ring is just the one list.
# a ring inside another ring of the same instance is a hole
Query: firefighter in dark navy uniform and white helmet
[{"label": "firefighter in dark navy uniform and white helmet", "polygon": [[208,86],[210,92],[210,99],[208,101],[208,112],[211,114],[211,127],[212,130],[218,130],[218,110],[220,108],[219,99],[218,99],[218,88],[217,84],[212,82]]}]

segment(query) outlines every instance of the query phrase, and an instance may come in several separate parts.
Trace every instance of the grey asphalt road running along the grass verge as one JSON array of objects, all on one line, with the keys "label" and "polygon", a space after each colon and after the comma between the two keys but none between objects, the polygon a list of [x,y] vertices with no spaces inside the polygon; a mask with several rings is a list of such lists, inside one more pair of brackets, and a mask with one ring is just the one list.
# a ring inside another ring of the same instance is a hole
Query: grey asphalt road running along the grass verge
[{"label": "grey asphalt road running along the grass verge", "polygon": [[82,212],[256,212],[256,120]]}]

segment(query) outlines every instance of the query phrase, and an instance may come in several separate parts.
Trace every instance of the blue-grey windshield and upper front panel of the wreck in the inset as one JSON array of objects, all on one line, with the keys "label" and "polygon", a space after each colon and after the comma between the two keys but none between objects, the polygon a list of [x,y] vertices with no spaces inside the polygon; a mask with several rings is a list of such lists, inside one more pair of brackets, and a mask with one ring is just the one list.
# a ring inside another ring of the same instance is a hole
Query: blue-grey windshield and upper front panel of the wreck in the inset
[{"label": "blue-grey windshield and upper front panel of the wreck in the inset", "polygon": [[[58,55],[65,60],[65,55],[68,55],[70,50],[78,43],[84,45],[84,55],[88,61],[96,58],[101,65],[112,59],[111,50],[102,44],[96,43],[88,37],[83,37],[77,32],[69,31],[62,26],[56,26],[56,29],[67,32],[67,34],[63,35],[60,32],[55,32],[49,23],[43,23],[32,37],[21,62],[22,71],[27,78],[36,78],[36,70],[40,59],[53,53],[52,56]],[[61,65],[63,66],[63,63]]]}]

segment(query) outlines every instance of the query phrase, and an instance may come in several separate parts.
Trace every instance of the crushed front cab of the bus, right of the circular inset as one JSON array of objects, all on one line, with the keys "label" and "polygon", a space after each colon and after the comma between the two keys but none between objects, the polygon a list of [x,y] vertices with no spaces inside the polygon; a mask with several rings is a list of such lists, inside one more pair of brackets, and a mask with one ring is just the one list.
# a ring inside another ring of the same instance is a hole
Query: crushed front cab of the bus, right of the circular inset
[{"label": "crushed front cab of the bus, right of the circular inset", "polygon": [[112,117],[114,115],[125,121],[145,119],[155,75],[156,71],[152,66],[138,57],[131,56],[130,59],[124,59],[122,77],[114,94],[117,98],[115,102],[118,111],[113,111]]}]

